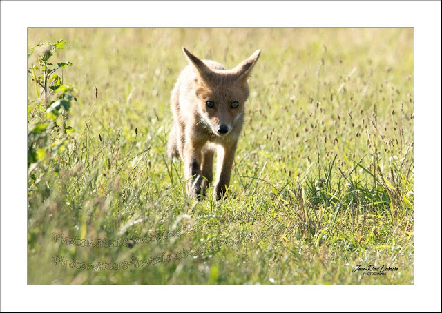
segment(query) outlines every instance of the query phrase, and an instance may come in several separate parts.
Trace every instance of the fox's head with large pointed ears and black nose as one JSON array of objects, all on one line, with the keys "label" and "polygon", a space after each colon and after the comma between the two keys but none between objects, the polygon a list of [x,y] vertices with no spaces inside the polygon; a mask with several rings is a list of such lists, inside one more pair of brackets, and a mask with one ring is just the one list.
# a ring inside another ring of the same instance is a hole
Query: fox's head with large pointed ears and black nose
[{"label": "fox's head with large pointed ears and black nose", "polygon": [[218,137],[227,136],[236,127],[240,128],[244,102],[249,97],[247,77],[261,50],[256,50],[232,70],[225,70],[213,61],[202,61],[186,48],[183,50],[197,72],[195,97],[203,122]]}]

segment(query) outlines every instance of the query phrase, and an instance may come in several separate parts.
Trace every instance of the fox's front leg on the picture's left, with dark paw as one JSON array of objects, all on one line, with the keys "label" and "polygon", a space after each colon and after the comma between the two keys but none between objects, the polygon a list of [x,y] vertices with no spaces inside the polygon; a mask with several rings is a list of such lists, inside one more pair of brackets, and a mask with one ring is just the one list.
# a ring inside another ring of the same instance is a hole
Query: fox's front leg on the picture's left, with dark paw
[{"label": "fox's front leg on the picture's left, with dark paw", "polygon": [[184,175],[187,181],[187,194],[196,199],[202,196],[201,145],[186,142],[184,145]]}]

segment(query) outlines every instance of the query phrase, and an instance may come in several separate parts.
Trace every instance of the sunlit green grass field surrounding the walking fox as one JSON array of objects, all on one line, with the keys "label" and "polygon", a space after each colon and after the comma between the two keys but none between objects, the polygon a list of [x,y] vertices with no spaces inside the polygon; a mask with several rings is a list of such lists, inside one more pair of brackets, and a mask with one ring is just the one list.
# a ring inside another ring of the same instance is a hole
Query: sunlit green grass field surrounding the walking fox
[{"label": "sunlit green grass field surrounding the walking fox", "polygon": [[[412,29],[29,28],[28,52],[59,39],[77,102],[28,166],[29,284],[414,283]],[[186,197],[166,157],[182,46],[262,50],[227,201]]]}]

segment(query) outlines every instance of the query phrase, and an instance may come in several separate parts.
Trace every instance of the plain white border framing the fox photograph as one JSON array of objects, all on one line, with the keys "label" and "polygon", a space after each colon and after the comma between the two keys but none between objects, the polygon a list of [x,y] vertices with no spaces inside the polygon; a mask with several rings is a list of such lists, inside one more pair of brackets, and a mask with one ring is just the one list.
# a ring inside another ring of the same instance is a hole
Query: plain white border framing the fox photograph
[{"label": "plain white border framing the fox photograph", "polygon": [[[27,286],[27,27],[59,26],[414,27],[414,286]],[[0,103],[1,311],[441,311],[440,1],[1,1]]]}]

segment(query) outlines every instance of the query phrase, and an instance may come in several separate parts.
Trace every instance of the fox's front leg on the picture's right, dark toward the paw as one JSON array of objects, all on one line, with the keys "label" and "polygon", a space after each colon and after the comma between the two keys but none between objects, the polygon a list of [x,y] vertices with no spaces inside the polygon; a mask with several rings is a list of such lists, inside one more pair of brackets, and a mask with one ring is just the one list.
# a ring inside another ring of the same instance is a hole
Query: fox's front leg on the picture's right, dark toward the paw
[{"label": "fox's front leg on the picture's right, dark toward the paw", "polygon": [[215,184],[215,193],[218,200],[224,198],[230,183],[233,159],[235,158],[236,142],[223,145],[217,152],[217,182]]}]

